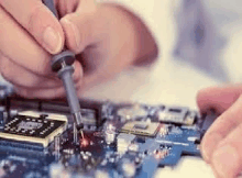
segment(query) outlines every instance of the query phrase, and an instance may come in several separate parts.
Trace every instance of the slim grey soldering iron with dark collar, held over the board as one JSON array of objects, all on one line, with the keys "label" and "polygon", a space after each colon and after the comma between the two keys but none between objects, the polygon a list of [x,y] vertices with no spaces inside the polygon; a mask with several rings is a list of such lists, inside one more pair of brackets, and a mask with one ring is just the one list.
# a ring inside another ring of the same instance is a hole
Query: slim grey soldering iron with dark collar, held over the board
[{"label": "slim grey soldering iron with dark collar, held over the board", "polygon": [[[55,8],[53,0],[43,0],[43,3],[54,13],[58,19],[58,13]],[[81,137],[84,138],[82,133],[82,121],[80,114],[80,104],[77,98],[77,92],[75,89],[75,84],[73,81],[72,75],[74,73],[74,67],[72,66],[75,62],[75,54],[70,51],[63,49],[62,53],[54,55],[52,60],[52,70],[58,74],[58,77],[62,79],[65,87],[67,101],[69,104],[70,113],[73,114],[76,129],[80,132]]]}]

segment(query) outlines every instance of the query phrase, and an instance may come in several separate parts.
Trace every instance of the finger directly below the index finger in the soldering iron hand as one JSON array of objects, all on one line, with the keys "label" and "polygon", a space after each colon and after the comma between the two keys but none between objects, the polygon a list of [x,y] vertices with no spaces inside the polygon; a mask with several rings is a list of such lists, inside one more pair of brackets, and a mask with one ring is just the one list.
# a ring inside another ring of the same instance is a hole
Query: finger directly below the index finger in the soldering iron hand
[{"label": "finger directly below the index finger in the soldering iron hand", "polygon": [[51,56],[1,7],[0,49],[32,73],[43,76],[52,74]]}]

